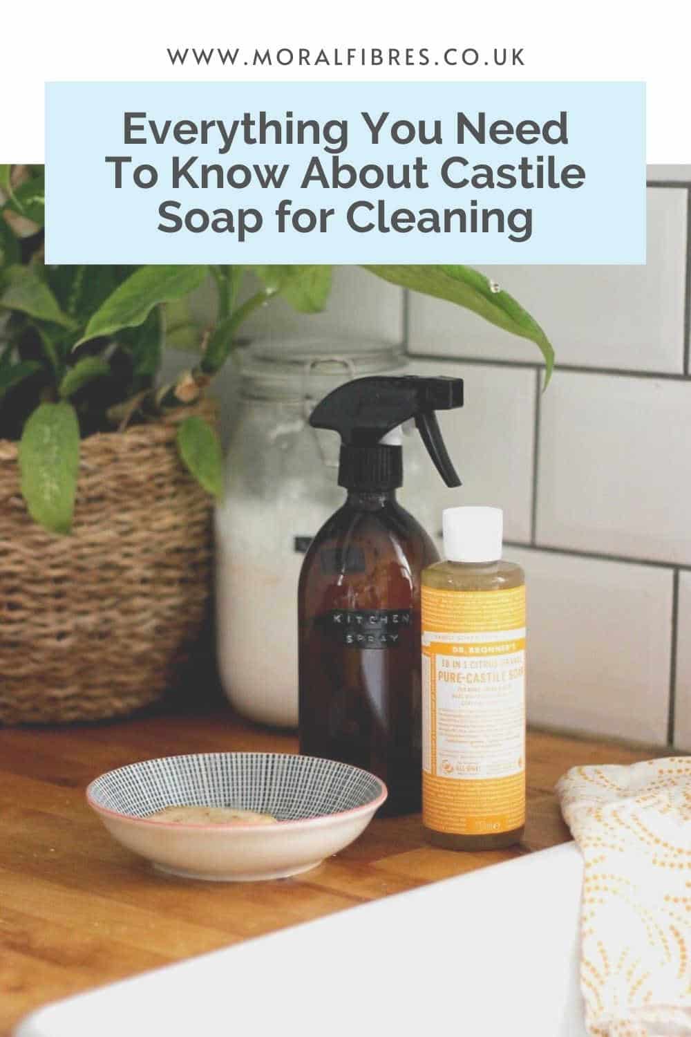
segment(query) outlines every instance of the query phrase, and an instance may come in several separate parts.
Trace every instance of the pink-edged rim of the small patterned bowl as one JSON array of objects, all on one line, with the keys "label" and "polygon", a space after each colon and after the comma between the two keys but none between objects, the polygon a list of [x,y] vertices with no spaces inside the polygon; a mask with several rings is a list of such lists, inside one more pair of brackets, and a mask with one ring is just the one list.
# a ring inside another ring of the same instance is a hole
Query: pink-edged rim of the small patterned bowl
[{"label": "pink-edged rim of the small patterned bowl", "polygon": [[[133,814],[123,814],[119,810],[111,810],[110,807],[104,807],[99,803],[95,803],[93,800],[92,789],[96,782],[100,781],[102,778],[107,778],[108,775],[114,774],[116,770],[122,770],[124,767],[138,766],[141,763],[157,763],[160,760],[173,760],[173,759],[183,759],[184,757],[194,756],[303,756],[301,753],[271,753],[271,752],[254,752],[252,750],[240,750],[238,752],[227,752],[227,753],[178,753],[174,756],[154,756],[151,759],[146,760],[134,760],[132,763],[123,763],[119,767],[113,767],[111,770],[105,770],[93,781],[90,781],[86,787],[85,795],[86,802],[96,814],[103,814],[107,817],[116,818],[119,821],[126,821],[131,824],[145,825],[150,830],[156,829],[174,829],[176,832],[219,832],[221,834],[227,835],[230,832],[247,833],[253,832],[256,834],[269,836],[272,833],[285,832],[289,829],[294,832],[297,829],[306,826],[318,828],[324,824],[328,824],[332,821],[344,820],[348,817],[355,817],[357,815],[367,814],[376,811],[385,803],[388,797],[388,789],[385,782],[378,778],[377,775],[372,774],[371,770],[365,770],[364,767],[357,767],[352,763],[346,763],[345,766],[350,767],[352,770],[358,770],[361,774],[368,775],[373,778],[380,786],[379,795],[376,800],[372,800],[370,803],[361,804],[359,807],[351,807],[349,810],[339,810],[334,814],[317,814],[316,817],[297,817],[289,821],[279,821],[276,824],[196,824],[194,822],[186,821],[154,821],[150,817],[135,817]],[[304,756],[304,759],[309,760],[321,760],[327,763],[342,763],[342,760],[329,760],[325,756]]]}]

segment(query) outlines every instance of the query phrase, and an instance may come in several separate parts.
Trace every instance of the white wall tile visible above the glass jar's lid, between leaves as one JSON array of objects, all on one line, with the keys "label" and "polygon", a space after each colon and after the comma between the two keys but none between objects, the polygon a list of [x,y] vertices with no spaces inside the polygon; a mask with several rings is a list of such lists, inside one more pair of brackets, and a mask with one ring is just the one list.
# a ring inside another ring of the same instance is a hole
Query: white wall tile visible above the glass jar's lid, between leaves
[{"label": "white wall tile visible above the glass jar's lid, between leaves", "polygon": [[335,267],[332,293],[322,313],[296,313],[272,300],[242,326],[249,338],[334,335],[399,343],[403,340],[403,290],[359,267]]}]

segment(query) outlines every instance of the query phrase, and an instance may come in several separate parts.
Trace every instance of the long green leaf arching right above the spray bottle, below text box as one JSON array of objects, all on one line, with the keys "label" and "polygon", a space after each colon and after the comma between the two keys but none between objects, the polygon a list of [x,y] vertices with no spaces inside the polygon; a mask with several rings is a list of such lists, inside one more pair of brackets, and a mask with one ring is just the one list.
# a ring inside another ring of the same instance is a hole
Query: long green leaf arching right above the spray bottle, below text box
[{"label": "long green leaf arching right above the spray bottle, below text box", "polygon": [[365,267],[391,284],[445,299],[472,310],[490,324],[535,342],[547,367],[545,385],[554,366],[554,351],[540,325],[508,291],[497,290],[489,278],[470,267]]}]

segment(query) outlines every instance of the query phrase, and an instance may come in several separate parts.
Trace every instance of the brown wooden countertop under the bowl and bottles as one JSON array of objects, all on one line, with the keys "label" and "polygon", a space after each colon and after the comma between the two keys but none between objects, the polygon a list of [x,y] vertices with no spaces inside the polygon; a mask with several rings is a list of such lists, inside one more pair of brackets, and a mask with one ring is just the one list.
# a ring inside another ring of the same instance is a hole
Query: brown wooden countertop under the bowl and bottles
[{"label": "brown wooden countertop under the bowl and bottles", "polygon": [[0,1037],[33,1008],[79,990],[565,842],[552,788],[568,767],[653,755],[532,732],[520,847],[434,849],[418,816],[375,818],[344,852],[298,878],[205,884],[154,874],[84,801],[89,781],[134,760],[296,749],[290,734],[252,727],[223,707],[205,710],[0,730]]}]

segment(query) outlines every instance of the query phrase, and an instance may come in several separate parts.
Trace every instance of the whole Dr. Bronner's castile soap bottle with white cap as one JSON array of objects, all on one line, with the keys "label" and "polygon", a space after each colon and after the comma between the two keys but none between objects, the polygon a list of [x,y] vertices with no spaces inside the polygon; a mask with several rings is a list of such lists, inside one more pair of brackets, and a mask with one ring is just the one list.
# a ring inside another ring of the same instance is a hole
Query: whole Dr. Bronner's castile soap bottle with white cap
[{"label": "whole Dr. Bronner's castile soap bottle with white cap", "polygon": [[447,561],[423,571],[423,823],[449,849],[525,823],[525,582],[501,535],[500,508],[449,508]]}]

